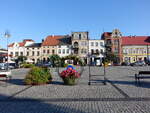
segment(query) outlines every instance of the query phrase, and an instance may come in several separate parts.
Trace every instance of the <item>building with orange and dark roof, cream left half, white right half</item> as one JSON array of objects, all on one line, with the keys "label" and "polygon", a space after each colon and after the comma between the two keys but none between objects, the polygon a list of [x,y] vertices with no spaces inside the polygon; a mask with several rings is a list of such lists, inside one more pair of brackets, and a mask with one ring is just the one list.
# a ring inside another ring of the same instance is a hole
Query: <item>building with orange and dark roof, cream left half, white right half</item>
[{"label": "building with orange and dark roof, cream left half, white right half", "polygon": [[60,57],[65,57],[71,54],[71,37],[69,35],[63,36],[48,36],[42,42],[42,60],[49,61],[49,56],[58,54]]}]

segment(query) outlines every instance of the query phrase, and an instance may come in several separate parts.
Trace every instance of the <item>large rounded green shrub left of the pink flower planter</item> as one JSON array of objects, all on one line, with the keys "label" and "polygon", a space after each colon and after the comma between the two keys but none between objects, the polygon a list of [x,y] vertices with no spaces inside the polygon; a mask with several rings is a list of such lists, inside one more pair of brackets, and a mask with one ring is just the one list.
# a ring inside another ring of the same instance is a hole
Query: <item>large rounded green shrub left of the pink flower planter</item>
[{"label": "large rounded green shrub left of the pink flower planter", "polygon": [[33,67],[25,77],[28,85],[46,84],[52,80],[52,75],[48,68]]}]

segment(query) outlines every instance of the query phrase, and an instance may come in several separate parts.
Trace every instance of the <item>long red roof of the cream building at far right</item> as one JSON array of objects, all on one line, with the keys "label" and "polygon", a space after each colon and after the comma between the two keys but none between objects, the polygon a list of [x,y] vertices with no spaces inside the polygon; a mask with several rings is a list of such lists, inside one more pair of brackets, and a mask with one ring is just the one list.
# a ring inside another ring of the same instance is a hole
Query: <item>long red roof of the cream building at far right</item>
[{"label": "long red roof of the cream building at far right", "polygon": [[122,45],[150,45],[150,36],[123,36]]}]

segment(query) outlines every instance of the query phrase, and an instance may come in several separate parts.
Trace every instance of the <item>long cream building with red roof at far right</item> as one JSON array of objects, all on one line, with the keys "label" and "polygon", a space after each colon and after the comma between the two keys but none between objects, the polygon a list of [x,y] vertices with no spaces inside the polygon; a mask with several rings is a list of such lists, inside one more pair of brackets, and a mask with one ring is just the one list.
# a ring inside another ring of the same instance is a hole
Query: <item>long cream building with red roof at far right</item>
[{"label": "long cream building with red roof at far right", "polygon": [[123,62],[150,61],[149,36],[122,37]]}]

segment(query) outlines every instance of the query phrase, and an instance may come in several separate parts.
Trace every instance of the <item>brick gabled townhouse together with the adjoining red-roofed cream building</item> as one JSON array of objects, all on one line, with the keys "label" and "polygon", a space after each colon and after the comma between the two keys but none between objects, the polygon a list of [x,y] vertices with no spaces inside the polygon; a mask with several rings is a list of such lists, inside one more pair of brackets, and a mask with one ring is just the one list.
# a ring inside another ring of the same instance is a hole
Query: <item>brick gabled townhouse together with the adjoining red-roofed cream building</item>
[{"label": "brick gabled townhouse together with the adjoining red-roofed cream building", "polygon": [[104,32],[101,37],[105,41],[106,53],[114,53],[118,63],[150,61],[150,36],[122,36],[118,29]]}]

